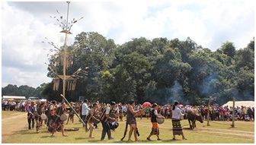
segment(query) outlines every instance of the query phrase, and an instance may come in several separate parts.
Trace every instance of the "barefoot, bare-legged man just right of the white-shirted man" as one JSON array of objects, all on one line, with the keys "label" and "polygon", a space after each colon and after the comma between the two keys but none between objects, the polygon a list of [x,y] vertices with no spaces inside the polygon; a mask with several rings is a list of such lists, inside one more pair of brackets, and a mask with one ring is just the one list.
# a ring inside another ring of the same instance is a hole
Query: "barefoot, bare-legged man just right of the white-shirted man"
[{"label": "barefoot, bare-legged man just right of the white-shirted man", "polygon": [[97,115],[97,111],[98,111],[98,103],[94,102],[92,105],[92,109],[88,113],[88,115],[90,115],[90,118],[88,119],[88,124],[90,126],[89,138],[94,138],[94,137],[92,137],[92,131],[94,129],[94,120],[100,121],[98,118],[95,118],[95,116]]}]

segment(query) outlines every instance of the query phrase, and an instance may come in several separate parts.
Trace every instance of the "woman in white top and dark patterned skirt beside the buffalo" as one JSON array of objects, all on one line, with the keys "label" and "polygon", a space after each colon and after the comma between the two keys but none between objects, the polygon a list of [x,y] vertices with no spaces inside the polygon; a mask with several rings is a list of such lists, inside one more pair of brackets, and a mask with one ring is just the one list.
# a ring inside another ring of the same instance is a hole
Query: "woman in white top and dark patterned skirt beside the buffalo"
[{"label": "woman in white top and dark patterned skirt beside the buffalo", "polygon": [[184,137],[182,127],[181,127],[181,115],[184,115],[181,113],[181,109],[178,108],[179,102],[174,101],[174,106],[172,107],[172,133],[173,133],[173,140],[176,140],[175,135],[181,135],[183,140],[187,140],[186,137]]}]

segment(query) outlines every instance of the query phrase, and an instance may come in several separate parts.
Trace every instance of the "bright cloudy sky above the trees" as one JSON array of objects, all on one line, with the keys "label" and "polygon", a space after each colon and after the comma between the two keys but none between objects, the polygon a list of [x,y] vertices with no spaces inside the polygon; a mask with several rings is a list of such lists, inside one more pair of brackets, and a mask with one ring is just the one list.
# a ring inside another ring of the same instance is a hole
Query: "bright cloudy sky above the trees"
[{"label": "bright cloudy sky above the trees", "polygon": [[[47,56],[63,46],[56,16],[67,18],[66,2],[2,2],[2,87],[50,83]],[[97,32],[116,44],[133,38],[164,37],[216,51],[226,41],[245,48],[254,37],[254,1],[85,1],[69,4],[72,26],[67,45],[82,32]],[[59,11],[59,14],[57,13]],[[83,17],[81,20],[79,20]],[[45,43],[42,43],[45,42]]]}]

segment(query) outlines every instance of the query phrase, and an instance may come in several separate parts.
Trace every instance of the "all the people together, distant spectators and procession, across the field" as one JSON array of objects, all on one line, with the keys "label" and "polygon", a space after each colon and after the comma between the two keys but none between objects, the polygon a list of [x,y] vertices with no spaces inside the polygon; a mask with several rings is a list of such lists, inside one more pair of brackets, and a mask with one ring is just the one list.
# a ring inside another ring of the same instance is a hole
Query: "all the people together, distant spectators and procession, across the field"
[{"label": "all the people together, distant spectators and procession, across the field", "polygon": [[[176,140],[175,135],[181,135],[183,140],[187,140],[181,128],[181,117],[186,115],[188,109],[194,107],[200,109],[202,118],[207,120],[208,107],[183,106],[177,101],[172,106],[169,103],[164,106],[156,103],[153,103],[152,106],[143,106],[142,104],[136,105],[134,100],[127,104],[122,104],[121,102],[116,103],[113,101],[109,103],[89,102],[88,99],[85,99],[82,102],[70,102],[68,106],[66,102],[56,102],[54,100],[48,102],[2,100],[2,110],[27,112],[28,130],[36,128],[37,133],[40,133],[40,127],[44,121],[44,125],[50,131],[51,137],[55,137],[56,131],[62,131],[62,136],[67,137],[64,123],[66,122],[66,125],[68,125],[70,121],[73,124],[74,115],[76,114],[81,119],[79,121],[83,124],[85,131],[89,131],[89,138],[94,138],[94,128],[98,128],[98,123],[101,122],[103,128],[101,140],[105,140],[106,134],[108,140],[112,140],[114,137],[111,136],[111,130],[115,130],[118,127],[118,121],[126,121],[126,130],[130,125],[128,141],[132,141],[132,135],[135,141],[139,140],[136,118],[142,119],[143,117],[150,119],[152,122],[152,131],[146,138],[147,140],[151,140],[152,135],[156,135],[157,140],[162,140],[159,137],[157,118],[171,119],[173,140]],[[232,111],[232,106],[210,106],[209,119],[210,121],[231,121]],[[68,116],[65,118],[66,114]],[[254,121],[254,107],[235,107],[235,121]]]}]

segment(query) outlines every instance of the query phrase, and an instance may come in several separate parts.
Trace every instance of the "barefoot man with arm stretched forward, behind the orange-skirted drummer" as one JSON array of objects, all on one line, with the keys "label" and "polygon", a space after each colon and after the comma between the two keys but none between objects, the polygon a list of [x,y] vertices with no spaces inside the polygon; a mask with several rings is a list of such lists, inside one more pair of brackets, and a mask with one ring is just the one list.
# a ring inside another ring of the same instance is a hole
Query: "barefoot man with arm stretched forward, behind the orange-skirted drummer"
[{"label": "barefoot man with arm stretched forward, behind the orange-skirted drummer", "polygon": [[135,106],[135,101],[131,100],[129,102],[128,109],[127,109],[127,114],[126,114],[126,123],[128,125],[130,125],[130,132],[129,132],[128,141],[132,141],[131,140],[132,134],[134,134],[135,141],[139,141],[139,139],[137,137],[138,128],[137,128],[137,122],[136,122],[136,115],[138,115],[139,112],[142,112],[147,108],[147,107],[145,107],[143,109],[139,109],[137,111],[134,111],[134,109],[133,109],[134,106]]}]

